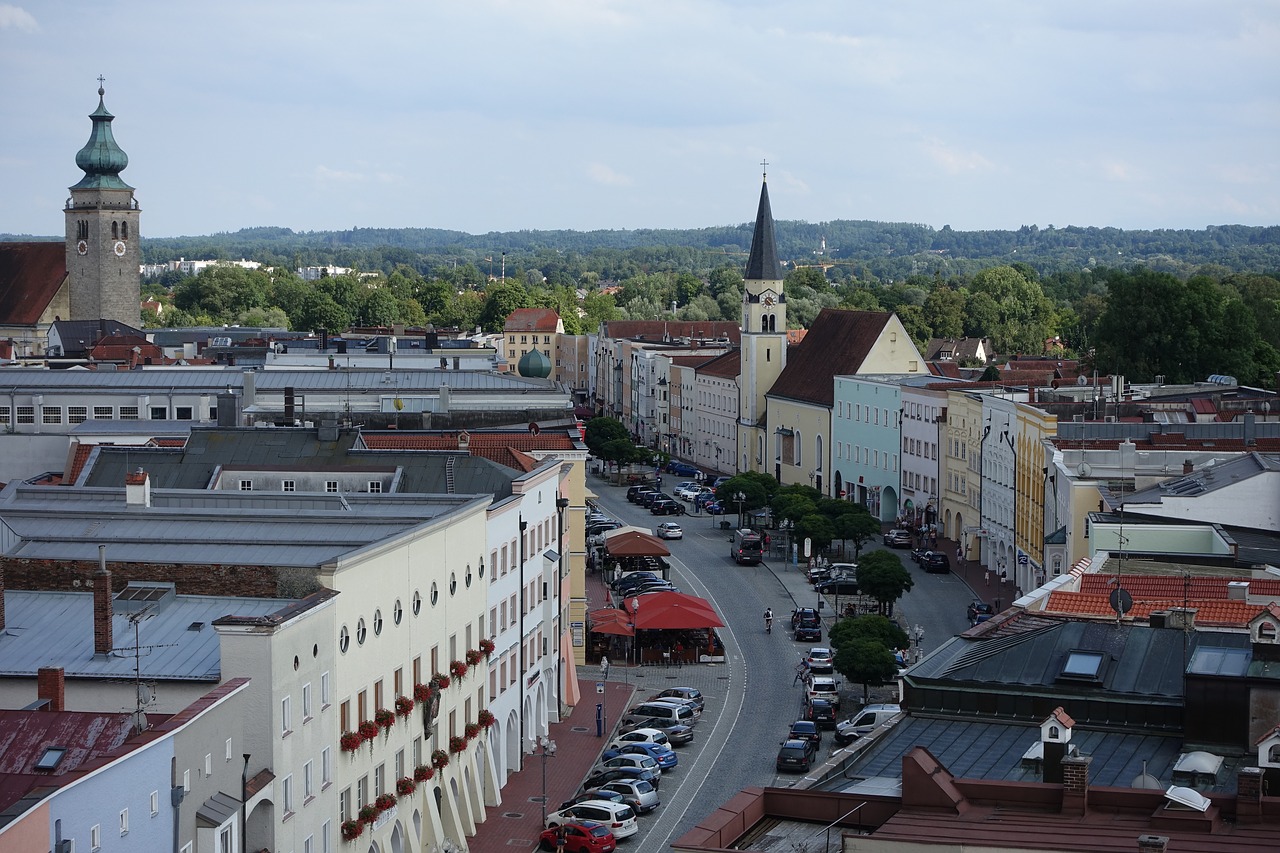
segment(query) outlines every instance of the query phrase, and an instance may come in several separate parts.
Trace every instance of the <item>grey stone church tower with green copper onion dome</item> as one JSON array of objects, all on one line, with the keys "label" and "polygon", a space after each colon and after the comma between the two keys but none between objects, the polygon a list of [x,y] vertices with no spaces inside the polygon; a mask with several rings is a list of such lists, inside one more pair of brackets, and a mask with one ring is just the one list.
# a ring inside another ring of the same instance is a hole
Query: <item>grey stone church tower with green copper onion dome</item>
[{"label": "grey stone church tower with green copper onion dome", "polygon": [[76,155],[84,172],[67,200],[67,277],[70,320],[116,320],[141,325],[138,201],[120,181],[129,164],[115,143],[99,77],[97,109],[88,142]]}]

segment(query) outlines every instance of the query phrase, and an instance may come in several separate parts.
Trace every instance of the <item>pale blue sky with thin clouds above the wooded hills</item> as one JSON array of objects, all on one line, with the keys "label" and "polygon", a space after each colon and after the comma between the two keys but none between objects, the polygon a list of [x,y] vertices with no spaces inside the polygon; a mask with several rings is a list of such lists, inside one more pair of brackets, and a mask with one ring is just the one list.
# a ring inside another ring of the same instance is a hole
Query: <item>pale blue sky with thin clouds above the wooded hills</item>
[{"label": "pale blue sky with thin clouds above the wooded hills", "polygon": [[100,74],[143,237],[1280,223],[1280,0],[0,0],[0,233]]}]

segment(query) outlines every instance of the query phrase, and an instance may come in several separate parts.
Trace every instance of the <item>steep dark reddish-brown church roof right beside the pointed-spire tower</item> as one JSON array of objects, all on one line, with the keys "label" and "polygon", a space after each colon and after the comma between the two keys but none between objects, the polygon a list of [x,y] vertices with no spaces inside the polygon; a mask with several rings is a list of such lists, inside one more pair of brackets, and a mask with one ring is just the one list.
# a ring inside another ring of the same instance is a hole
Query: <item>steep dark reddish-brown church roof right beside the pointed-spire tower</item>
[{"label": "steep dark reddish-brown church roof right beside the pointed-spire tower", "polygon": [[787,366],[769,389],[785,397],[829,407],[837,375],[856,374],[892,314],[823,309],[800,346],[787,352]]}]

